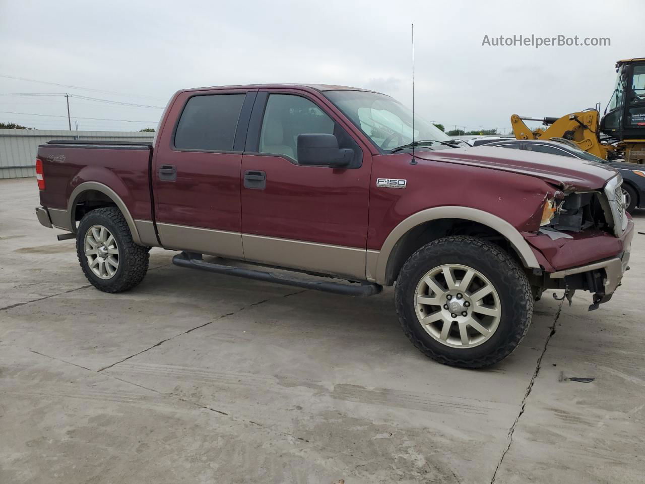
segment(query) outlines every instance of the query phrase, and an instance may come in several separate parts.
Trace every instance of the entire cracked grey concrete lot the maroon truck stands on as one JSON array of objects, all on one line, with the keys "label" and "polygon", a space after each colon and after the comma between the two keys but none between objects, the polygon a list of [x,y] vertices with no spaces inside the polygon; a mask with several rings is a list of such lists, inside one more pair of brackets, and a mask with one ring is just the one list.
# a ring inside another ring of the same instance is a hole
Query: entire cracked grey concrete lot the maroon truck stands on
[{"label": "entire cracked grey concrete lot the maroon truck stands on", "polygon": [[551,334],[560,303],[545,294],[517,351],[469,371],[412,347],[391,291],[293,294],[152,250],[142,285],[101,293],[35,205],[33,179],[0,182],[0,482],[643,474],[638,239],[613,301],[587,313],[575,297]]}]

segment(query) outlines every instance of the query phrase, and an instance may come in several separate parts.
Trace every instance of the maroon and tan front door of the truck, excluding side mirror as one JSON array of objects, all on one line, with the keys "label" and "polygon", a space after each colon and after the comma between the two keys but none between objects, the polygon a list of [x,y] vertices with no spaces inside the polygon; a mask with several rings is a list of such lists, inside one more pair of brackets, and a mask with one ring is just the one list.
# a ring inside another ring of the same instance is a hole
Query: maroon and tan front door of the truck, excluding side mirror
[{"label": "maroon and tan front door of the truck, excluding side mirror", "polygon": [[[365,279],[372,156],[346,121],[301,90],[261,90],[242,159],[242,232],[249,261]],[[334,134],[347,168],[303,166],[297,137]]]}]

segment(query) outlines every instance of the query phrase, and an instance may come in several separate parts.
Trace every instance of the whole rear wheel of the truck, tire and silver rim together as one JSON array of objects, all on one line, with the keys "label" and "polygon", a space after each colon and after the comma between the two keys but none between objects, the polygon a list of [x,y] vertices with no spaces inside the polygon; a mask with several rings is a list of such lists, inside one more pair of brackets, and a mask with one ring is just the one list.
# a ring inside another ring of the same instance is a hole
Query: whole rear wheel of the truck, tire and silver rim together
[{"label": "whole rear wheel of the truck, tire and silver rim together", "polygon": [[103,292],[132,289],[148,271],[148,248],[134,243],[128,223],[115,207],[85,214],[76,234],[76,252],[85,277]]}]

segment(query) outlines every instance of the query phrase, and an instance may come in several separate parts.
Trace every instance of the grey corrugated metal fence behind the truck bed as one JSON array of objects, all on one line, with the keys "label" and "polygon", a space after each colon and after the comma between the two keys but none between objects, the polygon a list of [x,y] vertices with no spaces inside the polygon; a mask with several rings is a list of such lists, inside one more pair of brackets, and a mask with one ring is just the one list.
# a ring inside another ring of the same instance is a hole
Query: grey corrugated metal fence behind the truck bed
[{"label": "grey corrugated metal fence behind the truck bed", "polygon": [[152,141],[154,133],[0,129],[0,178],[35,176],[38,145],[52,139]]}]

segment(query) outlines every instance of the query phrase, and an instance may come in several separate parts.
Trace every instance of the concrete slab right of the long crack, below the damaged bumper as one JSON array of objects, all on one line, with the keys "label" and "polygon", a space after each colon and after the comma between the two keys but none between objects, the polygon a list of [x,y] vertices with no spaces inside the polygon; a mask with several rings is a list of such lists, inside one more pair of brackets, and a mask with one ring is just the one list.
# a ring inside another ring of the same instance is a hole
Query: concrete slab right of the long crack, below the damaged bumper
[{"label": "concrete slab right of the long crack, below the damaged bumper", "polygon": [[[642,232],[643,214],[636,223]],[[635,236],[631,270],[609,303],[588,312],[577,294],[562,305],[496,483],[643,482],[644,242]]]}]

